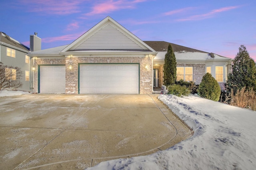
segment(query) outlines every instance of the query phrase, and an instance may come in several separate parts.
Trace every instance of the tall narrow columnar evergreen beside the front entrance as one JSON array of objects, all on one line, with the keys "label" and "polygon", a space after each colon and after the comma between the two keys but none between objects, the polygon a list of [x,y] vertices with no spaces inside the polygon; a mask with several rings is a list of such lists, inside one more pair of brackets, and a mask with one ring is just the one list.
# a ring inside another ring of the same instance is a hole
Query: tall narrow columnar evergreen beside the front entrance
[{"label": "tall narrow columnar evergreen beside the front entrance", "polygon": [[164,58],[164,85],[169,86],[176,81],[176,58],[172,50],[172,46],[169,44],[167,53]]}]

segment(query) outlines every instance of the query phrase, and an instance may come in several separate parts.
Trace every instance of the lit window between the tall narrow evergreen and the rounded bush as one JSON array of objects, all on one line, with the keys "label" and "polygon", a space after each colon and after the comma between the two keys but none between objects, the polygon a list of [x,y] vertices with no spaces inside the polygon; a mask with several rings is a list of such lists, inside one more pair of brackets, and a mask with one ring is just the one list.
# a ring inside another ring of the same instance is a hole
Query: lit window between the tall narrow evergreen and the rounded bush
[{"label": "lit window between the tall narrow evergreen and the rounded bush", "polygon": [[193,81],[193,67],[177,67],[177,81]]}]

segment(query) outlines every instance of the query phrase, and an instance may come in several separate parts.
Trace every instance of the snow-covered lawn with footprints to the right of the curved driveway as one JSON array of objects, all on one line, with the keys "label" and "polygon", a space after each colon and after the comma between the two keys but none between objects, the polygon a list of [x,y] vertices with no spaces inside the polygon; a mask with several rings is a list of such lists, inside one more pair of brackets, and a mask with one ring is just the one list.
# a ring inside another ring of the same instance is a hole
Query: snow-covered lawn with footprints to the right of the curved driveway
[{"label": "snow-covered lawn with footprints to the right of the curved driveway", "polygon": [[256,167],[256,111],[190,95],[160,95],[194,135],[148,156],[109,160],[88,170],[252,170]]}]

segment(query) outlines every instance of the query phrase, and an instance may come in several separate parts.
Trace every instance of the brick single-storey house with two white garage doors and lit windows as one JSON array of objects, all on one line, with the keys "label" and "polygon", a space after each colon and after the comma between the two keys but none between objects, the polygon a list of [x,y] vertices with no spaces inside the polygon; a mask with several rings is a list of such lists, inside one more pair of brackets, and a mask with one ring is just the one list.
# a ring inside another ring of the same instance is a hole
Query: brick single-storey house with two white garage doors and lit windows
[{"label": "brick single-storey house with two white garage doors and lit windows", "polygon": [[[69,45],[30,52],[34,92],[152,94],[163,84],[164,41],[142,41],[109,16]],[[222,85],[231,59],[171,44],[177,77],[199,84],[210,72]]]}]

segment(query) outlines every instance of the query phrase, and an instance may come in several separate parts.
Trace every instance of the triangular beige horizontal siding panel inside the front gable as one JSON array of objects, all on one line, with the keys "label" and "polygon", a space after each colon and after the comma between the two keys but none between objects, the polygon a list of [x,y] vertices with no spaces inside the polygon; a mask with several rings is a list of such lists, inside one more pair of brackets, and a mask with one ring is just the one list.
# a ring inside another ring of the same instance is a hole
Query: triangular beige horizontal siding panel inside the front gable
[{"label": "triangular beige horizontal siding panel inside the front gable", "polygon": [[132,39],[124,35],[111,24],[106,25],[97,33],[88,38],[75,50],[142,50]]}]

